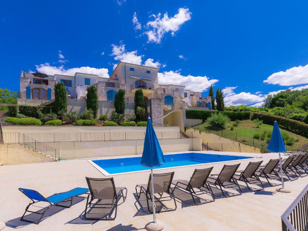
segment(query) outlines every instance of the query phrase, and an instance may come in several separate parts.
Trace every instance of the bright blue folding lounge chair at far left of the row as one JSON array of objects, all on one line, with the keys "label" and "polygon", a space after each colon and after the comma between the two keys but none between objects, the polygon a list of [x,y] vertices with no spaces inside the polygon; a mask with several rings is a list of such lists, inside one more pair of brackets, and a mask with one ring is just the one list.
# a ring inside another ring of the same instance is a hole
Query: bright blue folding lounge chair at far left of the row
[{"label": "bright blue folding lounge chair at far left of the row", "polygon": [[[60,206],[60,207],[64,207],[64,208],[70,208],[72,206],[72,201],[73,201],[73,197],[82,195],[84,193],[87,193],[89,191],[88,188],[74,188],[70,191],[64,192],[64,193],[56,193],[51,195],[50,197],[43,197],[39,192],[33,190],[33,189],[27,189],[27,188],[18,188],[20,192],[22,192],[23,194],[25,194],[27,197],[29,197],[31,199],[31,203],[26,207],[26,211],[25,213],[22,215],[22,217],[20,218],[21,221],[26,221],[26,222],[30,222],[33,224],[39,224],[45,214],[45,212],[47,211],[47,209],[49,209],[49,207],[51,206]],[[49,205],[43,210],[42,213],[39,212],[33,212],[28,210],[30,205],[33,205],[34,203],[37,203],[39,201],[44,201],[44,202],[48,202]],[[65,206],[65,205],[59,205],[59,203],[61,202],[67,202],[67,201],[71,201],[71,205],[69,206]],[[29,213],[36,213],[36,214],[41,214],[41,217],[38,221],[29,221],[29,220],[25,220],[23,217],[26,215],[26,212]]]}]

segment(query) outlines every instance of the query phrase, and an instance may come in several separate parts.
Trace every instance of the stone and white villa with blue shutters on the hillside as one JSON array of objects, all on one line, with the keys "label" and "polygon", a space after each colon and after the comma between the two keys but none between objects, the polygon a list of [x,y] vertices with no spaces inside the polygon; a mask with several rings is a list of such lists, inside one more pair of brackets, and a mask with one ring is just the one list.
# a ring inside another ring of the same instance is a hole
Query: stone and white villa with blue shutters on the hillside
[{"label": "stone and white villa with blue shutters on the hillside", "polygon": [[49,105],[55,97],[54,85],[63,82],[67,89],[67,111],[81,113],[86,109],[87,87],[97,88],[99,115],[114,111],[113,100],[119,89],[126,92],[127,114],[134,113],[134,94],[142,89],[147,116],[151,116],[156,125],[169,123],[171,126],[185,126],[186,109],[211,110],[211,97],[201,98],[201,92],[185,89],[185,86],[173,84],[160,85],[157,72],[159,68],[120,62],[110,78],[76,72],[74,76],[48,75],[48,78],[36,78],[31,73],[20,76],[18,104]]}]

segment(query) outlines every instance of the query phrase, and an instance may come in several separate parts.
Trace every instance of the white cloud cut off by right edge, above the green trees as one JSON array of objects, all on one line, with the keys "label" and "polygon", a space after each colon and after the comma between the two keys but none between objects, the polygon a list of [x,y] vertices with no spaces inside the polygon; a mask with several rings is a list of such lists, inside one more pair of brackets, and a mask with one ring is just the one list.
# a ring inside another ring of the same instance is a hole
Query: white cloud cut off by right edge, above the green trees
[{"label": "white cloud cut off by right edge, above the green trees", "polygon": [[268,84],[279,84],[280,86],[308,83],[308,64],[304,67],[292,67],[286,71],[276,72],[263,80],[263,82]]}]

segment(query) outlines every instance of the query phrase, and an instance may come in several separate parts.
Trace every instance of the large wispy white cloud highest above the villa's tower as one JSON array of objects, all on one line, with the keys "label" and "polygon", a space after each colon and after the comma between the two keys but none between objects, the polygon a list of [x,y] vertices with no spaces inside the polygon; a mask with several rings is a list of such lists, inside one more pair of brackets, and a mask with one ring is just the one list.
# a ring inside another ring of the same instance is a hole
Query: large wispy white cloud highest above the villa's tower
[{"label": "large wispy white cloud highest above the villa's tower", "polygon": [[151,15],[154,20],[147,22],[148,31],[144,32],[148,36],[148,43],[160,43],[164,34],[169,31],[174,36],[180,26],[191,19],[191,14],[188,8],[179,8],[178,13],[170,18],[167,12],[163,18],[161,18],[161,13]]}]

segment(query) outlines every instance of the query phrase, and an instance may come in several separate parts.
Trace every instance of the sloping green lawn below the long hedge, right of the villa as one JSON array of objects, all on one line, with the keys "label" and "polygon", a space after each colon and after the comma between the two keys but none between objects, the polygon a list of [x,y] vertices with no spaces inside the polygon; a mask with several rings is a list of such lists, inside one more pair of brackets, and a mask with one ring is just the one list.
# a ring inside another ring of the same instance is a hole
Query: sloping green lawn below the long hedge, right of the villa
[{"label": "sloping green lawn below the long hedge, right of the villa", "polygon": [[[272,132],[273,130],[273,126],[272,125],[268,125],[268,124],[261,124],[260,128],[256,128],[255,124],[253,123],[252,120],[241,120],[240,124],[237,127],[234,127],[234,130],[231,131],[230,127],[232,126],[232,124],[234,123],[234,121],[230,121],[228,123],[228,127],[226,129],[223,130],[213,130],[213,128],[209,128],[209,124],[208,123],[203,123],[200,124],[199,126],[195,126],[193,128],[195,129],[199,129],[201,131],[204,132],[209,132],[209,133],[213,133],[216,134],[218,136],[222,136],[225,138],[228,138],[230,140],[235,140],[241,143],[263,143],[266,142],[266,137],[265,140],[257,140],[257,139],[253,139],[253,135],[255,133],[261,134],[263,132]],[[305,136],[301,136],[295,132],[291,132],[289,130],[285,130],[285,129],[280,129],[281,133],[286,133],[288,136],[293,137],[294,140],[297,140],[296,143],[308,143],[308,138]]]}]

